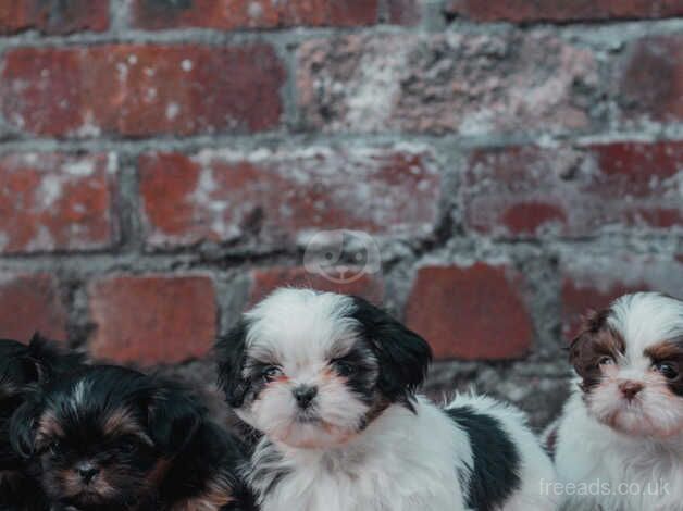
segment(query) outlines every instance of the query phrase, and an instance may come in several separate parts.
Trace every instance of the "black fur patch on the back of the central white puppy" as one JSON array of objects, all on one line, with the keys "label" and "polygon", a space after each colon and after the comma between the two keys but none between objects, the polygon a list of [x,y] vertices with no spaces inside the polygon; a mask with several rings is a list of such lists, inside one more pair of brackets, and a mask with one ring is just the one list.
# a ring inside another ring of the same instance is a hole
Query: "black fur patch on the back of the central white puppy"
[{"label": "black fur patch on the back of the central white puppy", "polygon": [[520,453],[500,423],[470,407],[446,410],[467,432],[474,466],[469,474],[468,508],[494,511],[520,488]]}]

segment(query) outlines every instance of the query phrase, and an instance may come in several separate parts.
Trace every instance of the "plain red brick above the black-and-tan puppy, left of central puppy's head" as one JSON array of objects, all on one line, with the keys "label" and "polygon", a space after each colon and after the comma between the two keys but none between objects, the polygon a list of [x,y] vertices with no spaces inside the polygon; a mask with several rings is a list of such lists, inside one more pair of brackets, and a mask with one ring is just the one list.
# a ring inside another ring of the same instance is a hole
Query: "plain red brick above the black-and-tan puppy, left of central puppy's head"
[{"label": "plain red brick above the black-and-tan puppy, left of central puppy's head", "polygon": [[113,276],[91,283],[97,359],[171,364],[207,354],[216,334],[215,291],[201,275]]}]

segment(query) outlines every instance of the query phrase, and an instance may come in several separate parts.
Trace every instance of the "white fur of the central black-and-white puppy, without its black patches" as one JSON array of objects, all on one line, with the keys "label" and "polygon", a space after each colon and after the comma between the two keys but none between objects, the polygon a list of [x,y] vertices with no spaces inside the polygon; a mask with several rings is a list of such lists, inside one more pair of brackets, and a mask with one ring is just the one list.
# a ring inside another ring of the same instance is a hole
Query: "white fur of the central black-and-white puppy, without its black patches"
[{"label": "white fur of the central black-and-white puppy, without its black patches", "polygon": [[[464,429],[418,397],[414,413],[405,404],[390,404],[359,433],[369,406],[344,382],[324,376],[326,361],[358,340],[358,325],[347,316],[351,307],[349,297],[286,289],[247,315],[247,351],[276,359],[286,374],[251,407],[237,410],[266,434],[250,474],[262,511],[464,511],[467,489],[460,476],[467,483],[473,465]],[[369,357],[370,366],[377,363]],[[291,389],[300,384],[321,387],[320,415],[334,426],[332,433],[294,419]],[[450,404],[462,406],[497,419],[519,451],[521,487],[499,511],[556,509],[552,497],[542,495],[542,481],[555,482],[552,463],[524,415],[483,397],[459,396]]]}]

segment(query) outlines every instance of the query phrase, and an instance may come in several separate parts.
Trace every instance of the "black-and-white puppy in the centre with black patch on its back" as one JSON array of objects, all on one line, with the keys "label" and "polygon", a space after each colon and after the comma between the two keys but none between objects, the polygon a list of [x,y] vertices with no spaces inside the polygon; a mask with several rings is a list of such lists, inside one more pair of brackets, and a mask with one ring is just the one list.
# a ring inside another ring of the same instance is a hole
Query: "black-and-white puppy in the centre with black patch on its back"
[{"label": "black-and-white puppy in the centre with black patch on its back", "polygon": [[264,511],[551,510],[550,460],[521,412],[415,388],[427,344],[361,298],[281,289],[218,344],[221,384],[264,437]]}]

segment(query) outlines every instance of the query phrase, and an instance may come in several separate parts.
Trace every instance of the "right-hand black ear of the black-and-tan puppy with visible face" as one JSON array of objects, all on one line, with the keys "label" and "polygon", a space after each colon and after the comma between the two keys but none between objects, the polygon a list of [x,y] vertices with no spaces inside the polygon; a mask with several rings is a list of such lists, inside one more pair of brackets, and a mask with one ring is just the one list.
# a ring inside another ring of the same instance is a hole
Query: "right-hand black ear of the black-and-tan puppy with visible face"
[{"label": "right-hand black ear of the black-and-tan puppy with visible face", "polygon": [[172,383],[158,382],[148,403],[149,435],[164,453],[177,453],[195,436],[206,413],[197,396]]}]

